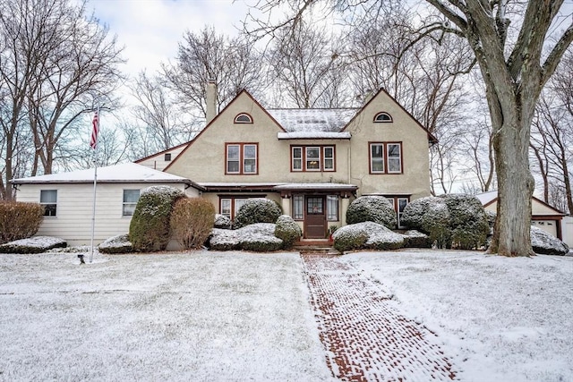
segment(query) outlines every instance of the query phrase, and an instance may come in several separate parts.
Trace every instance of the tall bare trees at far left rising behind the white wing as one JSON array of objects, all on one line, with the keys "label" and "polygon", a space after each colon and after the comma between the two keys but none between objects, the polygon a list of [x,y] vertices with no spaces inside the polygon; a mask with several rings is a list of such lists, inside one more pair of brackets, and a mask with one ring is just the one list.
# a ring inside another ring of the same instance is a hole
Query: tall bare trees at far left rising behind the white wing
[{"label": "tall bare trees at far left rising behind the white wing", "polygon": [[121,80],[121,59],[83,3],[0,0],[0,8],[0,192],[11,199],[14,175],[37,174],[40,165],[52,172],[65,135]]}]

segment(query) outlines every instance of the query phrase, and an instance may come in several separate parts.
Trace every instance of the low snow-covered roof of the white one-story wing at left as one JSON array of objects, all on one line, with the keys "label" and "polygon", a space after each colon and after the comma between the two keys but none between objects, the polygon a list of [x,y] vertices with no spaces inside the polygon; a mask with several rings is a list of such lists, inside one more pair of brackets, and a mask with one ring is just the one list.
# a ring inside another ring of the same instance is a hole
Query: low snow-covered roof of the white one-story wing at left
[{"label": "low snow-covered roof of the white one-story wing at left", "polygon": [[[13,179],[11,182],[13,184],[93,183],[94,170],[94,168],[90,168],[60,174],[30,176]],[[147,166],[135,163],[98,167],[98,183],[185,183],[198,190],[203,190],[198,183],[194,183],[182,176],[153,170]]]}]

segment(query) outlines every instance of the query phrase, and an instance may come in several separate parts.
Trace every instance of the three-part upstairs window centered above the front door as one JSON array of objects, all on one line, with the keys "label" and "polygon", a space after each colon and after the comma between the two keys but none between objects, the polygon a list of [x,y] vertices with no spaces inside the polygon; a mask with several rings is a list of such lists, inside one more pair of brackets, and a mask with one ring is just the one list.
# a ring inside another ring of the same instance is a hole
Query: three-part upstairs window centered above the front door
[{"label": "three-part upstairs window centered above the front door", "polygon": [[291,146],[291,171],[335,171],[334,146]]}]

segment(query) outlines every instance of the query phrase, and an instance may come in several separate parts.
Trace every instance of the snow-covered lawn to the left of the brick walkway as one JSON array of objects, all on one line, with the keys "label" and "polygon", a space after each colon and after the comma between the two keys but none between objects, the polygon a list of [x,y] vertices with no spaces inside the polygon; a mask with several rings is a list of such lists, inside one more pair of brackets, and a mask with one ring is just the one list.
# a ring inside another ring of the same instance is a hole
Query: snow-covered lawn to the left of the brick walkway
[{"label": "snow-covered lawn to the left of the brick walkway", "polygon": [[329,380],[297,253],[0,256],[0,380]]}]

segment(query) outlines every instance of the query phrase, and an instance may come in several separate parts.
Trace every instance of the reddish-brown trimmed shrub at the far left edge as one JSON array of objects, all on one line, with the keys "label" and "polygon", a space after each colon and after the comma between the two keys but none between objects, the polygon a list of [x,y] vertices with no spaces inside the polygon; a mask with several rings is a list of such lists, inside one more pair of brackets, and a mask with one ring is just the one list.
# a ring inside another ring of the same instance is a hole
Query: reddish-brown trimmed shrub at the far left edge
[{"label": "reddish-brown trimmed shrub at the far left edge", "polygon": [[43,216],[44,207],[38,203],[0,201],[0,244],[34,235]]}]

